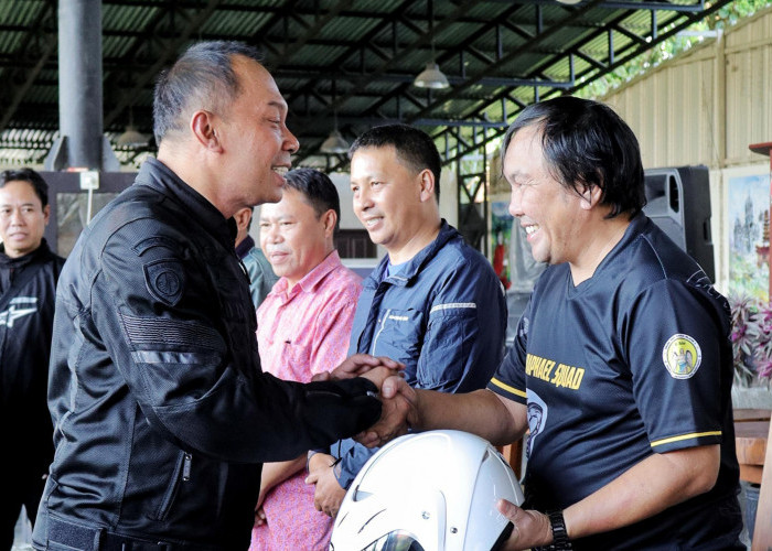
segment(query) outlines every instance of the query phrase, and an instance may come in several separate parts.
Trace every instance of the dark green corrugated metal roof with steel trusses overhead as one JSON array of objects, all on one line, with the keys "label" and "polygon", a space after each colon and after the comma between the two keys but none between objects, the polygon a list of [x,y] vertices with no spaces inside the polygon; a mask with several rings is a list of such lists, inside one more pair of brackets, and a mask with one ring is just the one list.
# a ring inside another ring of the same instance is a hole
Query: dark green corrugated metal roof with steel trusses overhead
[{"label": "dark green corrugated metal roof with steel trusses overhead", "polygon": [[[297,162],[320,154],[335,117],[349,140],[401,120],[429,131],[450,156],[461,155],[478,147],[475,128],[487,128],[486,137],[501,133],[524,105],[575,90],[729,1],[223,0],[199,21],[212,1],[105,0],[105,133],[115,140],[130,118],[151,133],[151,72],[159,60],[176,57],[169,48],[240,40],[265,52],[288,99],[288,125],[302,145]],[[40,162],[57,130],[56,52],[33,73],[46,41],[55,40],[56,4],[0,2],[0,77],[7,84],[0,100],[12,106],[0,115],[0,164]],[[412,85],[432,53],[450,79],[447,90]],[[33,82],[25,88],[28,78]],[[37,133],[10,138],[9,131],[24,129]],[[119,156],[129,161],[136,153]]]}]

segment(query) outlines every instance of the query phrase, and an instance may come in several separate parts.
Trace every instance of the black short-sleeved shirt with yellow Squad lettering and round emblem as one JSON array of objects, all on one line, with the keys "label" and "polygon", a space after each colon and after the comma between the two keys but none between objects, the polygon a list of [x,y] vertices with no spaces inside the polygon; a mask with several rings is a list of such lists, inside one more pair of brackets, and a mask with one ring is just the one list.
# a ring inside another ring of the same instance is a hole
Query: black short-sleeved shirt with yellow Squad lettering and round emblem
[{"label": "black short-sleeved shirt with yellow Squad lettering and round emblem", "polygon": [[578,287],[568,264],[544,272],[487,387],[527,403],[528,507],[566,508],[653,453],[721,444],[714,489],[575,549],[737,542],[729,323],[699,266],[643,215]]}]

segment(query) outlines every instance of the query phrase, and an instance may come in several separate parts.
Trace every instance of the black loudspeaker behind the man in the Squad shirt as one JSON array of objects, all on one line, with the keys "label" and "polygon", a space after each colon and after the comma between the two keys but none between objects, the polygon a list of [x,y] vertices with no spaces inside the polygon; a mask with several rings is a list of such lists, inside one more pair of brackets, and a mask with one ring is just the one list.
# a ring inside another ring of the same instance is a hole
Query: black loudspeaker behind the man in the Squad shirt
[{"label": "black loudspeaker behind the man in the Squad shirt", "polygon": [[644,174],[647,204],[643,212],[715,282],[708,168],[648,169]]}]

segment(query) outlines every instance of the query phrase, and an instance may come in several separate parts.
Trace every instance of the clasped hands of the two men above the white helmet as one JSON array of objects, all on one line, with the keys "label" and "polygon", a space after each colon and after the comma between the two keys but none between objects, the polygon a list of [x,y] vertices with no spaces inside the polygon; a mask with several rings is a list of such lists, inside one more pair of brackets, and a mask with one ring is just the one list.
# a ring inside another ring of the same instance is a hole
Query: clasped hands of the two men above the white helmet
[{"label": "clasped hands of the two men above the white helmet", "polygon": [[405,382],[405,366],[385,356],[355,354],[334,370],[318,375],[313,380],[340,380],[364,377],[378,388],[382,402],[380,419],[354,440],[367,447],[375,447],[406,434],[418,422],[418,395]]}]

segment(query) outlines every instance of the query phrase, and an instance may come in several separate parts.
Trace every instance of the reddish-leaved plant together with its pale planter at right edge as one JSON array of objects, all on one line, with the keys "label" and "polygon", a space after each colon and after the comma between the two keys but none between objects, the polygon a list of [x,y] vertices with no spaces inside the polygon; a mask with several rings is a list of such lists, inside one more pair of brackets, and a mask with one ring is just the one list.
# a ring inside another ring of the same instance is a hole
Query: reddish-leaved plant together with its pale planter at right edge
[{"label": "reddish-leaved plant together with its pale planter at right edge", "polygon": [[729,305],[735,407],[772,409],[772,304],[749,296],[730,296]]}]

